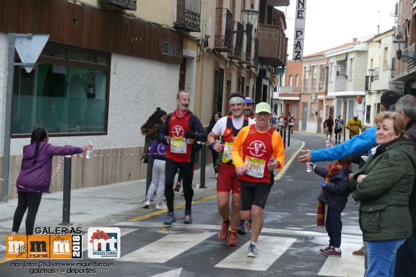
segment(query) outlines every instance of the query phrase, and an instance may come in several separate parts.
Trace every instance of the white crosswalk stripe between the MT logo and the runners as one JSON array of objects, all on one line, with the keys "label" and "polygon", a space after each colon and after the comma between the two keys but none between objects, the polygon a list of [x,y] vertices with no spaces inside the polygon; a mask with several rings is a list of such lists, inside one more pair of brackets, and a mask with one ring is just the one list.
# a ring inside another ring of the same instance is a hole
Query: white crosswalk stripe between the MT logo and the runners
[{"label": "white crosswalk stripe between the MT logo and the runners", "polygon": [[195,247],[214,232],[170,234],[119,258],[122,262],[164,263]]}]

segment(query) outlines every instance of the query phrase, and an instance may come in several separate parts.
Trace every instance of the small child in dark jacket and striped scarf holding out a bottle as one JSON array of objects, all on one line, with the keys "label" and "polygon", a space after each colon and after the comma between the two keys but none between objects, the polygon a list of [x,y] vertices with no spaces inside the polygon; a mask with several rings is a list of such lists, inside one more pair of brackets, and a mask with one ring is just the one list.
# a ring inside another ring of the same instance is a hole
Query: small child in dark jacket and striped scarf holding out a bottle
[{"label": "small child in dark jacket and striped scarf holding out a bottle", "polygon": [[[351,173],[351,161],[348,158],[336,161],[334,165],[328,168],[322,168],[312,164],[313,172],[322,176],[324,179],[320,182],[322,187],[318,197],[318,206],[327,205],[327,220],[325,229],[329,236],[329,247],[320,249],[325,256],[341,256],[341,231],[343,222],[341,222],[341,213],[343,212],[351,190],[348,187],[349,173]],[[324,213],[322,215],[323,223]],[[319,215],[318,215],[319,221]],[[318,224],[319,225],[319,224]]]}]

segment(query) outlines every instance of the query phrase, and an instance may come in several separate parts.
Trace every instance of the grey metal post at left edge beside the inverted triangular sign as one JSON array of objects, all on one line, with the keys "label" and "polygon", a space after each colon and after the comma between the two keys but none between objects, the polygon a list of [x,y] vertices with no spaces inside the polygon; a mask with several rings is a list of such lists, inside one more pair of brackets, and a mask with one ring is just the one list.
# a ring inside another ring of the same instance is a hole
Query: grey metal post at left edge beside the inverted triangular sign
[{"label": "grey metal post at left edge beside the inverted triangular sign", "polygon": [[7,56],[7,87],[6,87],[6,113],[4,116],[4,144],[3,144],[3,188],[1,189],[1,201],[8,200],[8,179],[10,166],[10,134],[12,127],[12,93],[13,74],[15,72],[15,34],[9,34],[8,56]]}]

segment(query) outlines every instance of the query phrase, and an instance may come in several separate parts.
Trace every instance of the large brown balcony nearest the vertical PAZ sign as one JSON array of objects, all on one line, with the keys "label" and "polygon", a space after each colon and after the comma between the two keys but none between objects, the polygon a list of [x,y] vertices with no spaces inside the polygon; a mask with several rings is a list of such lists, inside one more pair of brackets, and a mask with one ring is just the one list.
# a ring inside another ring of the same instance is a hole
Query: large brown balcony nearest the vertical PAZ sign
[{"label": "large brown balcony nearest the vertical PAZ sign", "polygon": [[259,59],[263,64],[286,64],[287,38],[279,26],[259,24]]}]

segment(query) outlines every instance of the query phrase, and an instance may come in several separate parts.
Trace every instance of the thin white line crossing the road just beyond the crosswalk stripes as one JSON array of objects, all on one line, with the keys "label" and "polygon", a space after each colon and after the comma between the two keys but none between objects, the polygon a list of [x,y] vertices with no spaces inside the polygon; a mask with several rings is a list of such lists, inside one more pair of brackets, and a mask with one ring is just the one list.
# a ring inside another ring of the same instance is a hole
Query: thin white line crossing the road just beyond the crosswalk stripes
[{"label": "thin white line crossing the road just beyond the crosswalk stripes", "polygon": [[[153,228],[166,228],[162,223],[159,222],[119,222],[112,226],[132,226],[132,227],[153,227]],[[183,223],[174,223],[171,228],[175,229],[202,229],[202,230],[215,230],[219,231],[220,225],[210,225],[210,224],[183,224]],[[263,228],[261,233],[272,233],[278,235],[302,235],[306,237],[328,237],[327,233],[315,232],[315,231],[299,231],[291,229],[271,229]],[[361,235],[342,235],[343,240],[349,240],[354,242],[363,242],[363,237]]]}]

